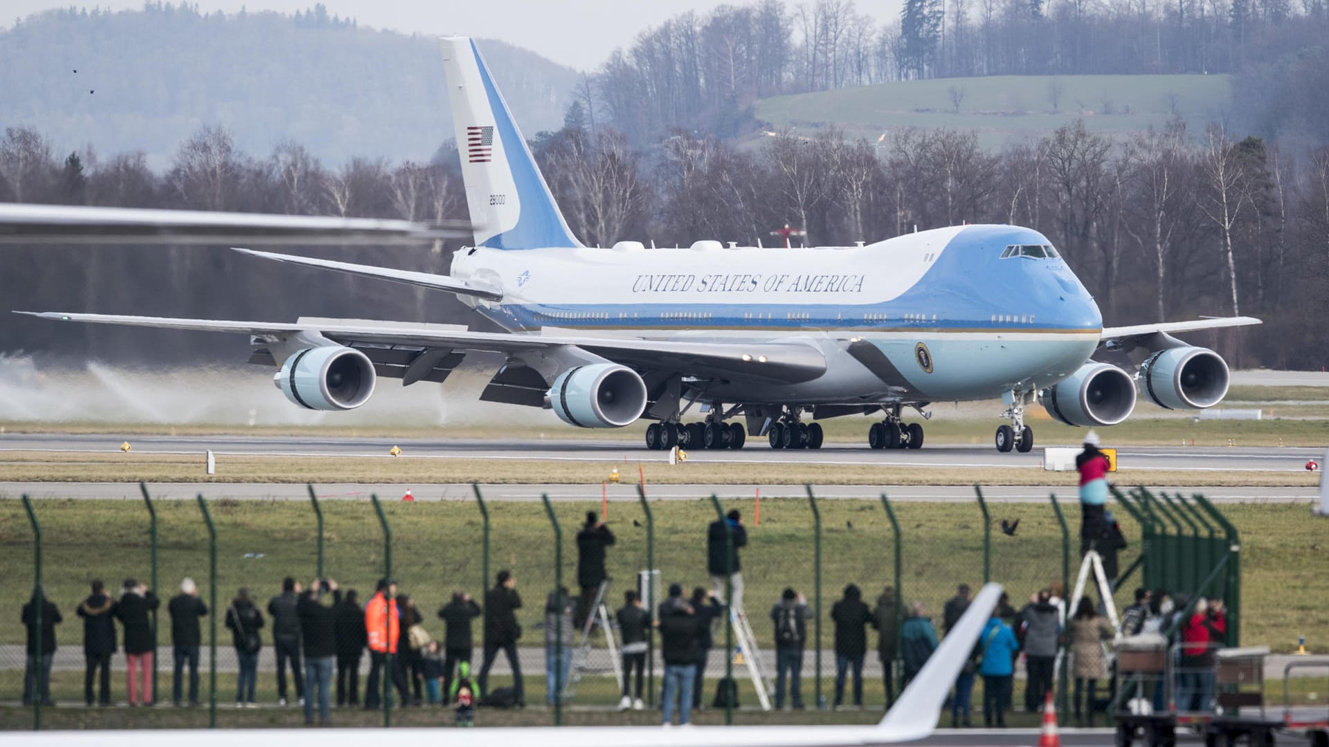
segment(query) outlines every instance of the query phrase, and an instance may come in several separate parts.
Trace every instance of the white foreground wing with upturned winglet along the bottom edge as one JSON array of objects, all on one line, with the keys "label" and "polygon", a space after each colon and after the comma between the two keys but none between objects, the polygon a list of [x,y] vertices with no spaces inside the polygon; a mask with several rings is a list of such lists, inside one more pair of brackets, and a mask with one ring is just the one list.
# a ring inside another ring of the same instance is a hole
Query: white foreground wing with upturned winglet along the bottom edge
[{"label": "white foreground wing with upturned winglet along the bottom edge", "polygon": [[[941,706],[991,618],[1001,586],[989,584],[941,641],[932,658],[877,726],[700,726],[684,732],[650,726],[481,727],[466,730],[469,747],[860,747],[924,739],[937,728]],[[396,728],[408,743],[432,744],[456,736],[456,728]],[[360,747],[360,730],[140,730],[140,731],[15,731],[9,747],[157,747],[187,742],[195,747]]]}]

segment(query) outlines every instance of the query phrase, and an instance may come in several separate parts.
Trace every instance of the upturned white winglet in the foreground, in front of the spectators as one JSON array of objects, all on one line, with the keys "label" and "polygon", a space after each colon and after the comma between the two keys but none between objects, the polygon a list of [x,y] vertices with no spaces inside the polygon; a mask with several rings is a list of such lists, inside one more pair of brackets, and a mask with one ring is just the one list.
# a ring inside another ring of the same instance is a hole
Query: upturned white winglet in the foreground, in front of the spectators
[{"label": "upturned white winglet in the foreground, in front of the spectators", "polygon": [[1001,598],[1001,585],[987,584],[978,591],[969,609],[961,615],[960,622],[950,629],[950,633],[941,641],[941,646],[932,653],[932,658],[914,677],[909,687],[900,694],[900,699],[881,719],[877,728],[889,731],[896,740],[922,739],[937,728],[937,719],[941,718],[941,706],[946,702],[946,694],[960,677],[965,662],[974,651],[978,637],[983,626],[991,619],[997,601]]}]

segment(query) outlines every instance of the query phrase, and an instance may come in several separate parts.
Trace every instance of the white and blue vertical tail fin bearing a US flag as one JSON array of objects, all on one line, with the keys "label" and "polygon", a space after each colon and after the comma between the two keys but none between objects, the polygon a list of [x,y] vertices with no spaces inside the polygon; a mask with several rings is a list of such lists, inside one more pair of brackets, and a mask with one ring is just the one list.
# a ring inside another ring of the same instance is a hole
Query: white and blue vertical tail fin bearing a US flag
[{"label": "white and blue vertical tail fin bearing a US flag", "polygon": [[464,36],[439,40],[476,245],[577,247],[489,66]]}]

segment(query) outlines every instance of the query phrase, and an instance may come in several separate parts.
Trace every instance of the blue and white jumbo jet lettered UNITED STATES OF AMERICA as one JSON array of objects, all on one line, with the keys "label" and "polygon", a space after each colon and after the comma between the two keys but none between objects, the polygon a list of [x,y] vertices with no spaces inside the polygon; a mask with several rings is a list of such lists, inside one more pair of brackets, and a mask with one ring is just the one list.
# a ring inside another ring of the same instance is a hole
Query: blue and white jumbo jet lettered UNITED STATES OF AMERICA
[{"label": "blue and white jumbo jet lettered UNITED STATES OF AMERICA", "polygon": [[[456,294],[508,332],[300,319],[223,322],[43,312],[73,322],[251,336],[251,363],[304,408],[352,409],[377,377],[444,381],[468,352],[506,363],[482,400],[552,408],[581,428],[639,419],[647,448],[820,448],[816,420],[880,413],[872,448],[922,447],[934,401],[1002,397],[998,451],[1027,452],[1035,401],[1070,425],[1115,425],[1136,391],[1207,408],[1228,391],[1211,350],[1172,336],[1257,324],[1239,316],[1103,327],[1053,243],[1019,226],[952,226],[870,245],[655,249],[583,246],[571,234],[484,57],[440,41],[474,246],[451,275],[239,249],[314,268]],[[704,420],[684,423],[704,409]],[[743,416],[744,421],[731,421]],[[811,416],[811,423],[805,421]],[[744,427],[746,425],[746,427]]]}]

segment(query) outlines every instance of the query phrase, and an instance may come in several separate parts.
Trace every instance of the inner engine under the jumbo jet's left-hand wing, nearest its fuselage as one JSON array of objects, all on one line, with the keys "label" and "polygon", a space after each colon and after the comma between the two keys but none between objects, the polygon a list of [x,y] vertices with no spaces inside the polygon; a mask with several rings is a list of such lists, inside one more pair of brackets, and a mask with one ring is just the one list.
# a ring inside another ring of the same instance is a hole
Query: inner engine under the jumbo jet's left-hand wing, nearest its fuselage
[{"label": "inner engine under the jumbo jet's left-hand wing, nearest its fuselage", "polygon": [[558,375],[549,405],[560,420],[582,428],[622,428],[646,409],[646,383],[626,366],[594,363]]}]

